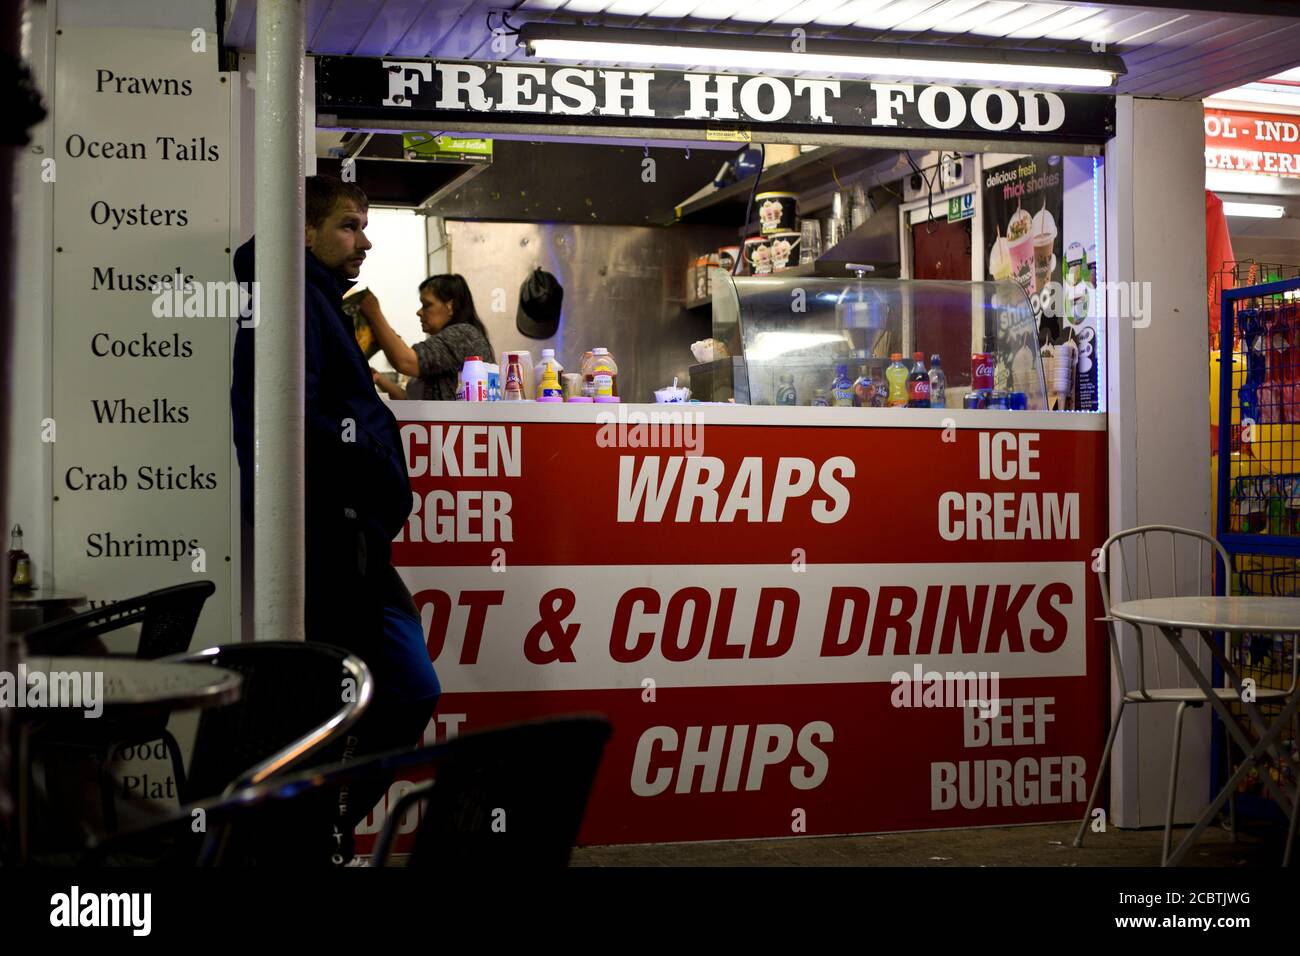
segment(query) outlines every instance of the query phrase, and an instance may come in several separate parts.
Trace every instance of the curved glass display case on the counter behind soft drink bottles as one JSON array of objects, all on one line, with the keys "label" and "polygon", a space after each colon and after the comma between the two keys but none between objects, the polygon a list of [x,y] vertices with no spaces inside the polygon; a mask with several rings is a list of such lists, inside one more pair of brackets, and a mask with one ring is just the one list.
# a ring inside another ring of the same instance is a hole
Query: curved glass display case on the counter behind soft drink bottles
[{"label": "curved glass display case on the counter behind soft drink bottles", "polygon": [[[1037,324],[1011,281],[719,272],[712,321],[714,341],[728,358],[692,368],[694,394],[712,401],[888,406],[890,380],[910,375],[920,352],[927,371],[931,358],[940,358],[945,407],[1048,407]],[[897,385],[893,398],[897,403]]]}]

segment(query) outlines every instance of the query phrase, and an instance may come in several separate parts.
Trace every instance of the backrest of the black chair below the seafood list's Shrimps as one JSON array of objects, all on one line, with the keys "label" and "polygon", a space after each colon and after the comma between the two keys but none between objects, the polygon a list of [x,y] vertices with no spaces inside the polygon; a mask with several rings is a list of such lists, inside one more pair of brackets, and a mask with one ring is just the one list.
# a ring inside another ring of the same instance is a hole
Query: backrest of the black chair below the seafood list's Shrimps
[{"label": "backrest of the black chair below the seafood list's Shrimps", "polygon": [[183,654],[203,605],[216,589],[212,581],[192,581],[151,591],[34,627],[22,640],[29,656],[88,654],[94,653],[86,646],[90,639],[140,624],[135,657],[155,661]]}]

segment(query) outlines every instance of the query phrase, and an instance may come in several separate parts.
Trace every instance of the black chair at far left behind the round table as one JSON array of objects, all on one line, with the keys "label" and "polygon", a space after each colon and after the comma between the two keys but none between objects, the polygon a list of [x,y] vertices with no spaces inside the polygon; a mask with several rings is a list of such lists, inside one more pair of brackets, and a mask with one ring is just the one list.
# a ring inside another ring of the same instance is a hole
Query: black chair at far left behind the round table
[{"label": "black chair at far left behind the round table", "polygon": [[[140,626],[134,657],[153,661],[185,653],[194,640],[203,605],[216,589],[212,581],[178,584],[52,620],[22,636],[23,657],[100,657],[107,650],[99,639],[133,624]],[[168,717],[161,714],[130,721],[107,718],[96,724],[94,735],[86,727],[78,727],[77,736],[55,731],[38,735],[32,745],[46,750],[88,749],[95,754],[99,762],[104,826],[112,831],[117,829],[112,757],[118,748],[161,740],[172,761],[177,787],[185,780],[185,761],[181,747],[166,728]]]}]

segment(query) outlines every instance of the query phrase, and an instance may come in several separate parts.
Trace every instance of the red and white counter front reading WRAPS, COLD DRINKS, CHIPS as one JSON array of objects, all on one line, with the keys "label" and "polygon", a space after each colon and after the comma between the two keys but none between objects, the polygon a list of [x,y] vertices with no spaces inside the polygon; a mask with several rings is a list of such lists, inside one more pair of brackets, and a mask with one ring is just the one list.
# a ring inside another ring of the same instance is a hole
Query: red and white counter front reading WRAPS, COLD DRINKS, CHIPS
[{"label": "red and white counter front reading WRAPS, COLD DRINKS, CHIPS", "polygon": [[1082,814],[1105,432],[637,424],[403,423],[428,740],[606,714],[582,843]]}]

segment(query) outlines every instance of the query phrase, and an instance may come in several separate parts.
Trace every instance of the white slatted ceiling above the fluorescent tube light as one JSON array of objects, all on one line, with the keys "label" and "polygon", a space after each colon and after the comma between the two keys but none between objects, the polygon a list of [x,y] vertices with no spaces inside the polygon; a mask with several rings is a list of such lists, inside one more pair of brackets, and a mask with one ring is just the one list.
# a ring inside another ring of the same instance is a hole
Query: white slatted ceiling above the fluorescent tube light
[{"label": "white slatted ceiling above the fluorescent tube light", "polygon": [[[1300,65],[1297,17],[1141,9],[1063,0],[303,0],[316,53],[503,60],[486,16],[514,10],[517,23],[607,22],[788,35],[910,39],[948,46],[1087,49],[1101,40],[1128,74],[1119,92],[1193,98]],[[256,0],[228,0],[226,43],[255,46]],[[755,61],[755,68],[760,64]]]}]

